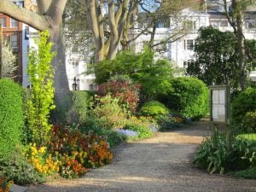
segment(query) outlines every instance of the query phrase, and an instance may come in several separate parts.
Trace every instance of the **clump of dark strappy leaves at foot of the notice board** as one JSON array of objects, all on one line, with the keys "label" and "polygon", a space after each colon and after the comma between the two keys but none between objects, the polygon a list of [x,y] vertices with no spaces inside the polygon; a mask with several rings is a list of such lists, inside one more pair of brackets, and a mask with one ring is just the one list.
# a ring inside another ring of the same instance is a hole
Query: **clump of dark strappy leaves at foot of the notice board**
[{"label": "clump of dark strappy leaves at foot of the notice board", "polygon": [[201,143],[196,151],[194,163],[210,173],[244,170],[255,166],[255,149],[255,143],[236,138],[232,140],[232,150],[229,152],[226,148],[225,137],[217,134]]}]

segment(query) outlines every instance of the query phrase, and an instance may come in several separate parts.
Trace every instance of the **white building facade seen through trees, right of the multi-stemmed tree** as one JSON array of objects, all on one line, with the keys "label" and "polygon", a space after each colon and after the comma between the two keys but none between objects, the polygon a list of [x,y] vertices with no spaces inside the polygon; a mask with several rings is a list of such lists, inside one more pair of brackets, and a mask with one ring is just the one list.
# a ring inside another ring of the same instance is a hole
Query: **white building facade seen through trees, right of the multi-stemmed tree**
[{"label": "white building facade seen through trees, right of the multi-stemmed tree", "polygon": [[[217,1],[218,0],[212,2]],[[198,30],[202,26],[215,26],[220,31],[233,32],[233,28],[230,26],[230,23],[226,19],[225,15],[219,13],[219,10],[224,11],[223,6],[218,4],[218,7],[215,7],[214,9],[218,11],[210,11],[208,9],[206,12],[200,12],[192,9],[183,9],[180,14],[180,20],[190,20],[192,29],[177,41],[166,44],[166,52],[163,54],[166,59],[171,61],[173,64],[176,64],[177,67],[180,68],[186,68],[190,61],[195,61],[195,38],[198,37]],[[136,31],[133,32],[136,33]],[[249,11],[245,14],[243,32],[245,38],[256,39],[256,11]],[[133,34],[131,33],[131,35]],[[172,19],[170,20],[170,26],[158,26],[155,32],[154,42],[160,42],[161,39],[164,39],[170,35],[172,35]],[[140,36],[140,38],[137,38],[137,40],[134,42],[134,46],[137,47],[136,52],[141,51],[149,39],[150,34],[143,34]],[[251,78],[253,77],[254,73],[256,72],[251,74]]]}]

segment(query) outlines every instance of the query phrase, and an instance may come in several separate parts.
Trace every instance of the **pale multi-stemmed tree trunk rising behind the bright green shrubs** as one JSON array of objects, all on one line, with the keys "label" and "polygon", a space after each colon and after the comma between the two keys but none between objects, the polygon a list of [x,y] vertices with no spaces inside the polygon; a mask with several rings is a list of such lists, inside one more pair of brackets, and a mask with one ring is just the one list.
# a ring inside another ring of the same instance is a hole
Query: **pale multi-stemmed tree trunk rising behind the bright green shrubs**
[{"label": "pale multi-stemmed tree trunk rising behind the bright green shrubs", "polygon": [[136,8],[133,6],[135,1],[108,0],[106,10],[104,1],[81,0],[86,8],[88,24],[94,37],[96,62],[105,58],[113,59],[117,54],[127,17],[132,11],[131,8]]}]

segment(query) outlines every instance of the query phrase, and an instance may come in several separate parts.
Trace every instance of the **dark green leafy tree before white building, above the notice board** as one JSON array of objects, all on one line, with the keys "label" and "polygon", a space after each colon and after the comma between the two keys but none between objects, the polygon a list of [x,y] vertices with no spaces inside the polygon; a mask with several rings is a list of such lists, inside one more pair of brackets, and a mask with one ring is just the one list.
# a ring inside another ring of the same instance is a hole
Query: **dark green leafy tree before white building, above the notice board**
[{"label": "dark green leafy tree before white building, above the notice board", "polygon": [[233,32],[221,32],[208,26],[199,30],[195,40],[196,61],[189,63],[187,73],[207,85],[230,84],[237,88],[237,51]]}]

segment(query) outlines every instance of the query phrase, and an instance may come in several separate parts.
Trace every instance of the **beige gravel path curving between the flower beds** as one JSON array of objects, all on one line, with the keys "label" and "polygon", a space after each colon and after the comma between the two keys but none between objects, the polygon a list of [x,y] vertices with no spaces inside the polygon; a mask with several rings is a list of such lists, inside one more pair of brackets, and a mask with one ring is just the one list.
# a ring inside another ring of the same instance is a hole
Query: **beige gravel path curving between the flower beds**
[{"label": "beige gravel path curving between the flower beds", "polygon": [[191,166],[191,156],[207,132],[207,123],[198,123],[122,144],[114,149],[111,165],[83,178],[33,185],[27,192],[256,192],[255,180],[209,175]]}]

